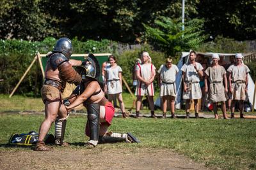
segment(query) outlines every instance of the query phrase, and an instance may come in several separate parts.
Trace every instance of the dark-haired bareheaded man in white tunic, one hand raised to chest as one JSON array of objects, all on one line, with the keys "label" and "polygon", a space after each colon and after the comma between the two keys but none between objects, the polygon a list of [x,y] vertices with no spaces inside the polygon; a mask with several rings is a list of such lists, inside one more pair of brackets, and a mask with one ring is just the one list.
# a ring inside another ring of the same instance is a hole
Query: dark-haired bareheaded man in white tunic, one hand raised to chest
[{"label": "dark-haired bareheaded man in white tunic, one hand raised to chest", "polygon": [[181,67],[182,80],[184,85],[183,99],[186,100],[186,118],[189,118],[189,109],[191,100],[194,101],[195,117],[199,118],[198,115],[198,99],[202,98],[202,91],[200,88],[200,77],[203,76],[203,67],[199,62],[195,61],[196,52],[191,51],[189,53],[189,62]]}]

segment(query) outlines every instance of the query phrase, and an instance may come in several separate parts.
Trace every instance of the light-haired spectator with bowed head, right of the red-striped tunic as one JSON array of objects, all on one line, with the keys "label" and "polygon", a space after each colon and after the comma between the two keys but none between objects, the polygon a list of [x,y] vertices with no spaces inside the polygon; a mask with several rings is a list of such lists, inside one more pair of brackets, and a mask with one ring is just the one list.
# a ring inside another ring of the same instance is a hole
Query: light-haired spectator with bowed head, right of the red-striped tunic
[{"label": "light-haired spectator with bowed head, right of the red-striped tunic", "polygon": [[162,97],[163,102],[163,118],[166,118],[168,99],[170,100],[171,118],[176,118],[175,97],[177,91],[175,87],[175,79],[179,69],[175,64],[172,64],[172,59],[167,58],[166,64],[161,65],[157,72],[159,73],[158,82],[160,86],[160,97]]}]

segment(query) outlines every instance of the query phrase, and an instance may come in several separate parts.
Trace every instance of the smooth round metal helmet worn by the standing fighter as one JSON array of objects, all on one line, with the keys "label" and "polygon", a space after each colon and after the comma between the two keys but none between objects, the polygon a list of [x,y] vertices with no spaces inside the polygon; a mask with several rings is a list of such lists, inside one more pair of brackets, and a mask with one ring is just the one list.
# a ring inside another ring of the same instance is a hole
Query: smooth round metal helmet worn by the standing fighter
[{"label": "smooth round metal helmet worn by the standing fighter", "polygon": [[72,48],[71,40],[69,38],[60,38],[58,39],[56,45],[54,46],[53,52],[63,53],[65,57],[70,59],[72,50],[73,48]]}]

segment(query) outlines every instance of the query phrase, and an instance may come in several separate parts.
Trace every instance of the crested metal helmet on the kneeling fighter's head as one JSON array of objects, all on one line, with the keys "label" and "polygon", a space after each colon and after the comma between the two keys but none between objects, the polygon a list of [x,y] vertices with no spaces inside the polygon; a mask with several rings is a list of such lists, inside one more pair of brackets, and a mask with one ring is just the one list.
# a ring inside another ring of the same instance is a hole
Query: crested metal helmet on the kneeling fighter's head
[{"label": "crested metal helmet on the kneeling fighter's head", "polygon": [[100,66],[95,56],[90,53],[86,59],[86,62],[83,63],[83,66],[76,67],[76,71],[81,75],[82,80],[93,78],[98,81],[100,75]]}]

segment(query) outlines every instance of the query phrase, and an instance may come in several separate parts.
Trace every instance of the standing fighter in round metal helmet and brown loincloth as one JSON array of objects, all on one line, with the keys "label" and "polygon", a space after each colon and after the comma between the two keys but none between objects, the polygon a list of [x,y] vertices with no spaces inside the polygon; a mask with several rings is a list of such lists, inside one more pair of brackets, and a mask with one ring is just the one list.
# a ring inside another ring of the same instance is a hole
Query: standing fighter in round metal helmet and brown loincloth
[{"label": "standing fighter in round metal helmet and brown loincloth", "polygon": [[81,63],[81,60],[69,60],[71,54],[72,44],[70,39],[60,38],[54,46],[54,50],[47,55],[45,81],[41,89],[42,100],[45,104],[45,119],[40,125],[38,142],[35,148],[37,151],[51,150],[51,148],[45,146],[44,138],[57,117],[56,142],[59,145],[63,144],[67,110],[62,103],[61,92],[65,89],[67,82],[78,85],[82,81],[81,76],[72,66],[81,65],[83,62]]}]

